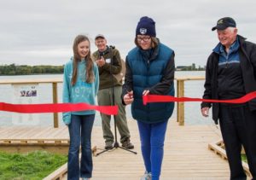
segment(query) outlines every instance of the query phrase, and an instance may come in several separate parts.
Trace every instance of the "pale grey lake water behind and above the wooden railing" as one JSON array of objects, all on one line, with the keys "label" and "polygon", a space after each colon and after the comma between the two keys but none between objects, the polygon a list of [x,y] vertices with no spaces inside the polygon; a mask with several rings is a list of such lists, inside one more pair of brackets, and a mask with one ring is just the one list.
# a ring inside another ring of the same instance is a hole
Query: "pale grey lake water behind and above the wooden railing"
[{"label": "pale grey lake water behind and above the wooden railing", "polygon": [[[204,76],[205,72],[176,72],[176,77],[188,76]],[[36,79],[36,78],[62,78],[61,74],[57,75],[25,75],[25,76],[0,76],[0,79]],[[203,80],[191,80],[185,82],[184,96],[188,97],[201,97],[203,94]],[[8,103],[25,103],[22,99],[15,98],[15,90],[24,87],[14,87],[11,84],[0,84],[0,102]],[[52,103],[52,84],[38,84],[36,87],[36,97],[26,98],[28,102],[32,103]],[[176,82],[175,82],[176,88]],[[26,87],[25,87],[26,89]],[[62,84],[58,84],[58,102],[61,101]],[[22,102],[23,101],[23,102]],[[132,120],[131,107],[126,107],[126,117]],[[177,109],[175,107],[172,114],[172,119],[177,119]],[[211,114],[210,114],[211,117]],[[60,125],[63,125],[61,120],[61,113],[59,113]],[[201,116],[200,102],[185,102],[185,125],[199,125],[199,124],[212,124],[211,118],[203,118]],[[53,126],[52,113],[9,113],[0,112],[0,125],[41,125]],[[100,114],[96,113],[95,125],[101,125]]]}]

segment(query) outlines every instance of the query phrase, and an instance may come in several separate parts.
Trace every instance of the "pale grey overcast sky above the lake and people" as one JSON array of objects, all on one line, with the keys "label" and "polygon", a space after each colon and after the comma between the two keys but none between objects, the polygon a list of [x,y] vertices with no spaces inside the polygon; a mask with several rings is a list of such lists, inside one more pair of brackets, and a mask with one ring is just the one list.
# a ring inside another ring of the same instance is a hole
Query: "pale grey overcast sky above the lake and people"
[{"label": "pale grey overcast sky above the lake and people", "polygon": [[123,58],[135,44],[142,16],[156,22],[156,36],[174,49],[176,66],[205,66],[218,44],[212,26],[224,16],[239,34],[256,43],[255,0],[0,0],[0,64],[63,65],[73,39],[102,33]]}]

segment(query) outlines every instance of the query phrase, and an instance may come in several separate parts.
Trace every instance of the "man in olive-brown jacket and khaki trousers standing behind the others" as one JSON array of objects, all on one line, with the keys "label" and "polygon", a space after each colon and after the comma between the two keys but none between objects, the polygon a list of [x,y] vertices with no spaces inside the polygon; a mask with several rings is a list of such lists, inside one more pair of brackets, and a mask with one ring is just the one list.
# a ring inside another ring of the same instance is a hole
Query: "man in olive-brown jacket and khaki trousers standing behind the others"
[{"label": "man in olive-brown jacket and khaki trousers standing behind the others", "polygon": [[[119,113],[115,116],[115,119],[120,134],[120,142],[124,148],[134,148],[130,142],[130,131],[125,116],[125,106],[121,100],[122,79],[114,78],[114,75],[120,73],[122,69],[119,50],[108,46],[107,39],[102,34],[96,36],[95,44],[98,50],[93,53],[92,58],[96,61],[100,75],[100,87],[97,96],[98,105],[117,105],[119,107]],[[114,142],[113,133],[110,129],[111,116],[104,113],[101,113],[101,116],[105,149],[111,149]]]}]

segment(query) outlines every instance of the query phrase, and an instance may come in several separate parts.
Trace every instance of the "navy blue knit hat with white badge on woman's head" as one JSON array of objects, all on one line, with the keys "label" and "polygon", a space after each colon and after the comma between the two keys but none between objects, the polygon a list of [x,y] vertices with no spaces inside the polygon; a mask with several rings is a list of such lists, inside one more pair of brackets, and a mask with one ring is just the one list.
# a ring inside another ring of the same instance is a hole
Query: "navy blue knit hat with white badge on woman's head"
[{"label": "navy blue knit hat with white badge on woman's head", "polygon": [[137,35],[148,35],[155,37],[155,22],[148,16],[143,16],[137,23],[136,36]]}]

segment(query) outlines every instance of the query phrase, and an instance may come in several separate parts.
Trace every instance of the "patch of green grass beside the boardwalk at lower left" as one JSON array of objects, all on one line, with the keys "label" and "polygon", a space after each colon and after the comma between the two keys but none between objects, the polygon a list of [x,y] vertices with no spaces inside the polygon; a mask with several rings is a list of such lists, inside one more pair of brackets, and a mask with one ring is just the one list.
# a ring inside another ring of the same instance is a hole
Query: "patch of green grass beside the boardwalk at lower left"
[{"label": "patch of green grass beside the boardwalk at lower left", "polygon": [[47,177],[67,162],[67,155],[35,151],[28,154],[0,152],[1,180],[37,180]]}]

